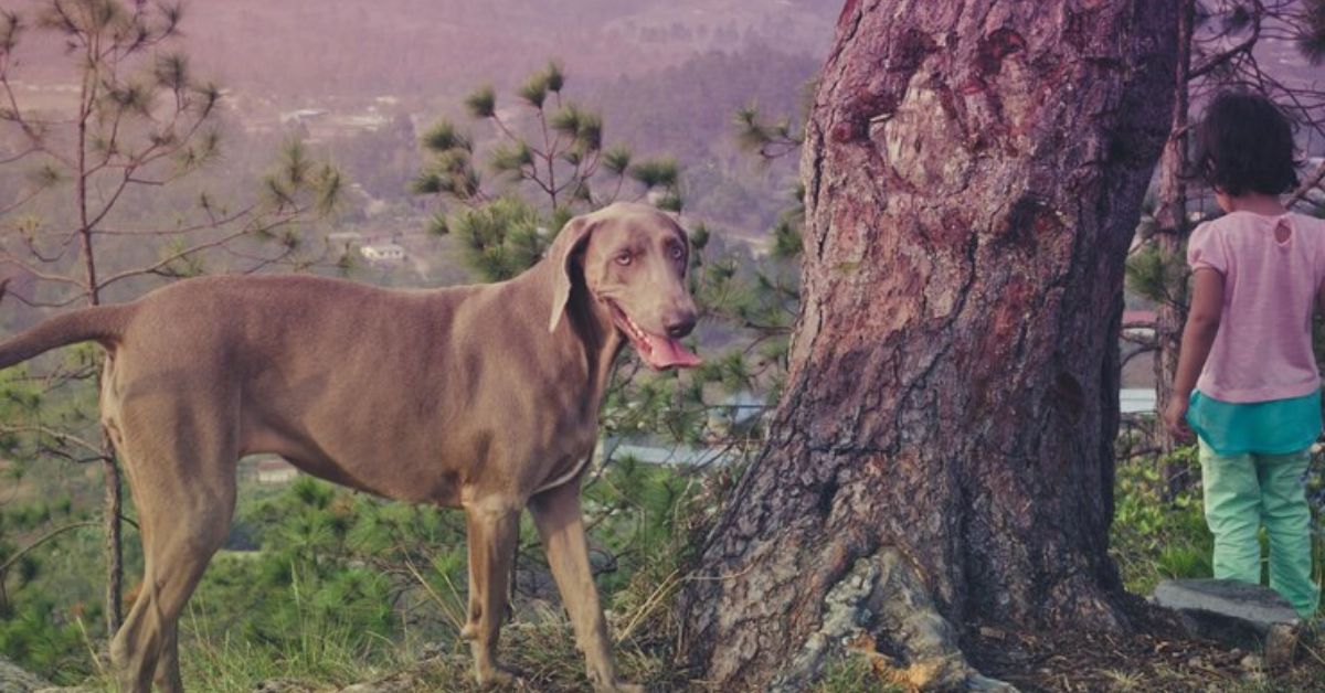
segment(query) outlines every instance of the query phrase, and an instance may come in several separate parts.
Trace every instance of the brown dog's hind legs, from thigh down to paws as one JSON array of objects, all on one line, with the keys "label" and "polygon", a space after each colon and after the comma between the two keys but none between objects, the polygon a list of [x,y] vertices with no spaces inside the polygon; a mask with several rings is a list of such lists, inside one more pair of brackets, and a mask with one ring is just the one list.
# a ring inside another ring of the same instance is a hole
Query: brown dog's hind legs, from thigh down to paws
[{"label": "brown dog's hind legs, from thigh down to paws", "polygon": [[[143,542],[143,587],[111,641],[121,690],[182,693],[179,613],[235,511],[235,436],[227,421],[193,401],[154,403],[127,412],[113,432],[129,472]],[[107,427],[111,428],[111,427]]]}]

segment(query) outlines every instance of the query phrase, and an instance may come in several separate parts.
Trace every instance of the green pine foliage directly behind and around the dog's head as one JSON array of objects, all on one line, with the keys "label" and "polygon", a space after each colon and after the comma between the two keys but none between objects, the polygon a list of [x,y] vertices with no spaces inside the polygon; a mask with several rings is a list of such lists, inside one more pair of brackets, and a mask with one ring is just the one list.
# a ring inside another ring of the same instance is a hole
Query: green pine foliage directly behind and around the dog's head
[{"label": "green pine foliage directly behind and around the dog's head", "polygon": [[465,98],[470,118],[489,129],[476,138],[449,119],[423,138],[429,162],[413,182],[441,209],[431,229],[461,245],[480,281],[501,281],[533,266],[574,215],[615,200],[648,200],[689,225],[692,292],[706,330],[725,354],[709,355],[694,374],[648,375],[628,358],[619,368],[602,415],[608,436],[652,435],[676,443],[742,445],[758,431],[733,429],[722,398],[775,391],[784,370],[786,338],[795,315],[796,285],[786,258],[799,248],[795,213],[770,257],[727,244],[721,232],[684,215],[681,164],[670,156],[637,159],[628,144],[607,144],[598,113],[566,94],[567,77],[550,62],[498,106],[482,86]]}]

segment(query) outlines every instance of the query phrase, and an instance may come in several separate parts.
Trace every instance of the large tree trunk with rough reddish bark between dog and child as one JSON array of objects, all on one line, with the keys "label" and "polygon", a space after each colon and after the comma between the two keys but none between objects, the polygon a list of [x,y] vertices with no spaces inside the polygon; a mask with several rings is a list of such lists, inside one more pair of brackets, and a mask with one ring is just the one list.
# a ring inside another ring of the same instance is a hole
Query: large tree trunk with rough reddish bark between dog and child
[{"label": "large tree trunk with rough reddish bark between dog and child", "polygon": [[1174,27],[1171,0],[847,3],[787,388],[681,599],[714,686],[800,688],[860,636],[955,685],[939,615],[1126,627],[1117,334]]}]

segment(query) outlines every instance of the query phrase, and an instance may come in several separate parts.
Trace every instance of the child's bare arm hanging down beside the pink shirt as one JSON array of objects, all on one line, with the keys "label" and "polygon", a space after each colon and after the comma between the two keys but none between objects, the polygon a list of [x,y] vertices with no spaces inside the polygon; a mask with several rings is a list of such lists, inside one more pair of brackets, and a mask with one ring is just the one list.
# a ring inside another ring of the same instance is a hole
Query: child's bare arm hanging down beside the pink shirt
[{"label": "child's bare arm hanging down beside the pink shirt", "polygon": [[[1187,311],[1187,325],[1182,330],[1182,350],[1178,351],[1178,372],[1174,374],[1173,392],[1163,412],[1165,425],[1173,437],[1181,441],[1190,441],[1192,437],[1186,420],[1187,400],[1196,387],[1200,370],[1206,367],[1206,358],[1210,356],[1210,347],[1215,343],[1224,306],[1223,274],[1215,269],[1202,268],[1194,277],[1191,307]],[[1325,297],[1325,293],[1321,295]]]}]

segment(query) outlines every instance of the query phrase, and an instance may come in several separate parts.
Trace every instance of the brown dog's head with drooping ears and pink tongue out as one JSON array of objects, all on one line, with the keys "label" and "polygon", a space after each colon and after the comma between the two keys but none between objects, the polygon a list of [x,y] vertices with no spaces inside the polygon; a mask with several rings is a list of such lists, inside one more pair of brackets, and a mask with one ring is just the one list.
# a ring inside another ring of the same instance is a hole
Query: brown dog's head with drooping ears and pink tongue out
[{"label": "brown dog's head with drooping ears and pink tongue out", "polygon": [[660,370],[700,363],[681,345],[694,329],[696,310],[685,282],[690,242],[672,217],[645,204],[612,204],[570,220],[547,260],[558,268],[550,330],[583,277],[590,297],[644,363]]}]

